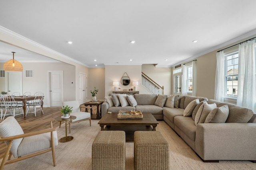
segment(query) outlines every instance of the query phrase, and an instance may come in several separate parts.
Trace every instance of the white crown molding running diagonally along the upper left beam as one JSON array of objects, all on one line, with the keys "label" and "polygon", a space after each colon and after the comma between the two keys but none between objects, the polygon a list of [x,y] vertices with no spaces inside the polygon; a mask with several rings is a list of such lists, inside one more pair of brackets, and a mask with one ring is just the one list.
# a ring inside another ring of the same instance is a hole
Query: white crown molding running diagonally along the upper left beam
[{"label": "white crown molding running diagonally along the upper left beam", "polygon": [[[54,50],[52,50],[52,49],[50,49],[50,48],[48,48],[48,47],[45,47],[44,45],[41,45],[41,44],[39,44],[39,43],[37,43],[37,42],[35,42],[35,41],[32,41],[31,39],[28,39],[28,38],[26,38],[26,37],[24,37],[24,36],[22,36],[22,35],[20,35],[20,34],[18,34],[18,33],[15,33],[15,32],[13,32],[13,31],[11,31],[11,30],[5,28],[5,27],[2,27],[1,25],[0,25],[0,32],[5,33],[5,34],[7,34],[7,35],[9,35],[9,36],[12,36],[12,37],[14,37],[14,38],[16,38],[16,39],[19,39],[19,40],[21,40],[21,41],[24,41],[25,43],[28,43],[28,44],[33,45],[33,46],[35,46],[35,47],[38,47],[38,48],[40,48],[40,49],[42,49],[42,50],[44,50],[44,51],[47,51],[47,52],[49,52],[49,53],[52,53],[52,54],[54,54],[54,55],[57,55],[57,56],[62,57],[62,58],[64,58],[64,59],[67,59],[67,60],[69,60],[69,61],[72,61],[72,62],[74,62],[74,63],[81,64],[81,65],[83,65],[83,66],[88,67],[86,64],[81,63],[80,61],[74,60],[74,59],[72,59],[71,57],[68,57],[68,56],[63,55],[63,54],[61,54],[61,53],[59,53],[59,52],[57,52],[57,51],[54,51]],[[47,56],[47,57],[48,57],[48,56]],[[54,59],[54,60],[56,60],[56,59]],[[37,61],[37,62],[38,62],[38,61]],[[26,62],[26,63],[29,63],[29,62]],[[45,62],[45,61],[44,61],[44,63],[49,63],[49,62]]]}]

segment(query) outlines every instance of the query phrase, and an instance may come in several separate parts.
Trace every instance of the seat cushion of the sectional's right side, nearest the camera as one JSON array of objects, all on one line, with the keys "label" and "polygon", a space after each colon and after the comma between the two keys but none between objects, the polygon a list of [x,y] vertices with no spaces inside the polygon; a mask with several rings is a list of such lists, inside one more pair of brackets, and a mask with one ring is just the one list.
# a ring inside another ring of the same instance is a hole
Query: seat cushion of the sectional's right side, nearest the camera
[{"label": "seat cushion of the sectional's right side, nearest the camera", "polygon": [[178,127],[190,139],[196,140],[196,126],[192,117],[176,116],[174,117],[174,124],[175,128]]}]

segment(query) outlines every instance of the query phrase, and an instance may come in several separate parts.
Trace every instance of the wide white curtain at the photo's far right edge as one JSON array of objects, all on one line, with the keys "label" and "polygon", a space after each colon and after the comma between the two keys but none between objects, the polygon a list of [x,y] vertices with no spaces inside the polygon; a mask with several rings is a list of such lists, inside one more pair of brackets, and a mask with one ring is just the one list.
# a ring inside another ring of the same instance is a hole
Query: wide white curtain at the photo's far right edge
[{"label": "wide white curtain at the photo's far right edge", "polygon": [[239,45],[237,105],[256,112],[255,40]]}]

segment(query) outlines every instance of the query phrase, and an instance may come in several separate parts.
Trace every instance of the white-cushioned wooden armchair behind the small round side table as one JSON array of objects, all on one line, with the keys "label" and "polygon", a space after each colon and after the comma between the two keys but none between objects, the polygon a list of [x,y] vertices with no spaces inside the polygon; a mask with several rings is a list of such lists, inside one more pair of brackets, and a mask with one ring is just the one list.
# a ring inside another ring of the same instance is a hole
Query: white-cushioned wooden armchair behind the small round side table
[{"label": "white-cushioned wooden armchair behind the small round side table", "polygon": [[[70,124],[73,123],[79,123],[81,121],[89,120],[90,121],[90,126],[91,126],[91,113],[81,111],[81,108],[87,108],[90,110],[91,107],[88,106],[80,106],[78,101],[68,101],[68,102],[62,102],[62,106],[70,106],[72,108],[72,112],[70,115],[76,116],[76,119],[68,121],[68,126],[69,126],[69,133],[70,133]],[[61,121],[60,121],[61,125]]]}]

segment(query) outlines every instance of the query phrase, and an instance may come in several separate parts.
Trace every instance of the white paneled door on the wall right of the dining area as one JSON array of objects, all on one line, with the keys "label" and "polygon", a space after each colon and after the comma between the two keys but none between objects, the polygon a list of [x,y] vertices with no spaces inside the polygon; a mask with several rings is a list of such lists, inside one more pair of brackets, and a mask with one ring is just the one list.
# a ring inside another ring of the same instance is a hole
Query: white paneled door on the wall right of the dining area
[{"label": "white paneled door on the wall right of the dining area", "polygon": [[50,106],[62,106],[63,102],[63,71],[49,72]]}]

